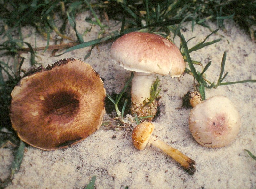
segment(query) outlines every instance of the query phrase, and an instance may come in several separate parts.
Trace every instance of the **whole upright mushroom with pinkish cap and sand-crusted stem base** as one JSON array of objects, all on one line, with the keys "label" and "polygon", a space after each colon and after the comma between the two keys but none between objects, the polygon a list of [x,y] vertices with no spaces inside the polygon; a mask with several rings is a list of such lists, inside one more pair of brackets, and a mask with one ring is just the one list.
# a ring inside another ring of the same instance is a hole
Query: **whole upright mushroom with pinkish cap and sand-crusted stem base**
[{"label": "whole upright mushroom with pinkish cap and sand-crusted stem base", "polygon": [[138,117],[155,115],[156,102],[147,107],[155,74],[180,77],[185,70],[180,50],[168,39],[156,34],[131,32],[118,38],[110,48],[110,57],[124,69],[133,71],[132,113]]}]

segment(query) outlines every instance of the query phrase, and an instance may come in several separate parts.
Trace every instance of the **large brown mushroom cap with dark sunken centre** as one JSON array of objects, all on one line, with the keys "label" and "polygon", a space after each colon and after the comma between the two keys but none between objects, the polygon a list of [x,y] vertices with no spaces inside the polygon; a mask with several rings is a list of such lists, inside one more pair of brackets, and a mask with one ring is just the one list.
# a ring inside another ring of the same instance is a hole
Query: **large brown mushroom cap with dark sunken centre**
[{"label": "large brown mushroom cap with dark sunken centre", "polygon": [[37,68],[14,87],[12,126],[33,147],[68,147],[99,129],[105,95],[102,80],[89,64],[62,59]]}]

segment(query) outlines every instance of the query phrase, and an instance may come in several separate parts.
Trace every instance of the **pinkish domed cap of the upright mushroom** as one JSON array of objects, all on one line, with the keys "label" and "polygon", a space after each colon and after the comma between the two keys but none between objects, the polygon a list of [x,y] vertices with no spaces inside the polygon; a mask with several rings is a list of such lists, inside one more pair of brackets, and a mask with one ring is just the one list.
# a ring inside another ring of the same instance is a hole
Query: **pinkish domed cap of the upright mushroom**
[{"label": "pinkish domed cap of the upright mushroom", "polygon": [[180,50],[156,34],[131,32],[111,46],[110,57],[126,70],[179,77],[185,70]]}]

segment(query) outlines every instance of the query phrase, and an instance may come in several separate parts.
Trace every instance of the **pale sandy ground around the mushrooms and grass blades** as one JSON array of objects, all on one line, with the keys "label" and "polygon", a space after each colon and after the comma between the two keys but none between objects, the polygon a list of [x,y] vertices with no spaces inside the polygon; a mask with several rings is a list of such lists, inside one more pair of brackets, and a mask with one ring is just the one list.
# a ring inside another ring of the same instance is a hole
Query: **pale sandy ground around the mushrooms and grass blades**
[{"label": "pale sandy ground around the mushrooms and grass blades", "polygon": [[[84,22],[87,13],[77,18],[78,31],[84,32],[90,25]],[[115,23],[111,23],[115,24]],[[210,23],[212,29],[217,26]],[[191,53],[193,60],[212,65],[206,72],[207,78],[217,81],[220,63],[224,51],[227,51],[226,81],[256,79],[256,45],[244,31],[234,23],[226,23],[226,30],[220,30],[209,41],[222,38],[217,44]],[[119,27],[119,26],[118,26]],[[113,29],[113,28],[112,28]],[[184,25],[182,34],[188,40],[188,48],[201,42],[211,32],[204,27]],[[37,47],[45,46],[46,41],[31,27],[22,28],[24,40]],[[72,28],[67,28],[73,38]],[[84,41],[97,37],[99,28],[85,34]],[[177,41],[176,41],[177,40]],[[178,37],[175,43],[179,46]],[[119,93],[129,78],[124,70],[109,57],[111,43],[99,45],[92,50],[86,60],[104,79],[108,94]],[[60,57],[51,57],[51,52],[38,51],[36,60],[43,65],[73,57],[84,60],[90,49],[84,48],[66,53]],[[29,62],[29,54],[23,54]],[[25,64],[24,68],[29,64]],[[197,67],[197,69],[200,69]],[[196,162],[196,173],[188,175],[167,155],[155,147],[148,146],[143,151],[136,150],[131,141],[131,133],[125,129],[110,129],[102,126],[82,142],[55,151],[43,151],[34,147],[25,148],[20,170],[15,174],[8,189],[20,188],[84,188],[92,176],[96,175],[95,187],[107,188],[256,188],[256,162],[244,149],[256,154],[256,84],[236,84],[207,89],[206,97],[224,95],[232,100],[241,116],[241,129],[236,140],[227,147],[212,149],[200,146],[192,137],[188,127],[190,109],[183,108],[181,97],[193,88],[192,76],[181,78],[159,76],[162,88],[160,95],[160,114],[154,121],[158,137],[172,147],[179,149]],[[130,116],[131,117],[131,116]],[[104,120],[110,119],[105,115]],[[134,125],[134,123],[133,123]],[[8,177],[13,160],[12,151],[0,149],[0,179]]]}]

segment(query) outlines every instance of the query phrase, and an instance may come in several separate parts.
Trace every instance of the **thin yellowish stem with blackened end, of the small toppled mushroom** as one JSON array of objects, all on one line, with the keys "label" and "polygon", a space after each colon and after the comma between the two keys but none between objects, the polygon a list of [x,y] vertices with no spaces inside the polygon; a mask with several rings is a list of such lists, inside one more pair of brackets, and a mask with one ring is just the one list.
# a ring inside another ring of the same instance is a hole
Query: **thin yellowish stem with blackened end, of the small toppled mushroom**
[{"label": "thin yellowish stem with blackened end, of the small toppled mushroom", "polygon": [[164,153],[171,156],[176,162],[180,163],[180,165],[190,175],[193,175],[195,173],[195,161],[190,159],[188,156],[182,154],[179,150],[169,146],[168,144],[161,140],[156,139],[156,137],[152,137],[148,144],[152,144],[153,146],[161,149]]}]

